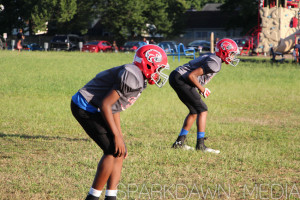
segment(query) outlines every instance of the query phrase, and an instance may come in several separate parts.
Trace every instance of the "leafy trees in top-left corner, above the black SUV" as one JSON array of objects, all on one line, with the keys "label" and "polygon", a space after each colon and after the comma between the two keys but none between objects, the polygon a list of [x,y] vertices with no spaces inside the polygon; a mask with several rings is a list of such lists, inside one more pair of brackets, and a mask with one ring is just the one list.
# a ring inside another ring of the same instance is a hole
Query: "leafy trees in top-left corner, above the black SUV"
[{"label": "leafy trees in top-left corner, above the black SUV", "polygon": [[0,0],[0,33],[28,28],[30,33],[85,34],[95,18],[96,0]]}]

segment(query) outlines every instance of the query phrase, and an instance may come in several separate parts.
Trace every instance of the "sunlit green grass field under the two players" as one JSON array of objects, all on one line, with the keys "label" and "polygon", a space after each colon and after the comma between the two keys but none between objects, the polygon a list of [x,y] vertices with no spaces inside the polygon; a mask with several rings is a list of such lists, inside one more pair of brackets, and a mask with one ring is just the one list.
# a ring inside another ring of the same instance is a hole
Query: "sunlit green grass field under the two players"
[{"label": "sunlit green grass field under the two players", "polygon": [[[0,51],[1,200],[85,198],[102,152],[73,118],[71,96],[132,59]],[[187,61],[169,57],[171,69]],[[207,87],[206,144],[221,153],[171,149],[188,111],[169,84],[149,86],[121,113],[129,156],[119,198],[300,199],[300,66],[245,59]]]}]

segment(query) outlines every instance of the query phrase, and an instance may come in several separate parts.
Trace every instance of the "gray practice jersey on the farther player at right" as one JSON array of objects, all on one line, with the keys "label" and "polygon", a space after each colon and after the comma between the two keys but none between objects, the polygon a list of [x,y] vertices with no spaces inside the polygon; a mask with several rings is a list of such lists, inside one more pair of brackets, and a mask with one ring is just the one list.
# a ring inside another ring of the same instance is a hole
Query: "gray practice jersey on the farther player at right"
[{"label": "gray practice jersey on the farther player at right", "polygon": [[176,68],[182,77],[188,81],[188,75],[195,69],[201,67],[203,69],[203,75],[198,76],[199,83],[204,86],[221,70],[222,60],[215,54],[203,55],[189,63],[184,64]]}]

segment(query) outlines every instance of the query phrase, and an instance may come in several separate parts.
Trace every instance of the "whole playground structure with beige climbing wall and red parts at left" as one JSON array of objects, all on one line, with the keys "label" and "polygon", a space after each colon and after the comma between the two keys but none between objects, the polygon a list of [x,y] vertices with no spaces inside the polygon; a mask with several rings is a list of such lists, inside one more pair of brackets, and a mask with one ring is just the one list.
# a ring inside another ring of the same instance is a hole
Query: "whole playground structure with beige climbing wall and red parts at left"
[{"label": "whole playground structure with beige climbing wall and red parts at left", "polygon": [[260,0],[258,25],[245,37],[247,42],[241,55],[290,53],[299,38],[300,0]]}]

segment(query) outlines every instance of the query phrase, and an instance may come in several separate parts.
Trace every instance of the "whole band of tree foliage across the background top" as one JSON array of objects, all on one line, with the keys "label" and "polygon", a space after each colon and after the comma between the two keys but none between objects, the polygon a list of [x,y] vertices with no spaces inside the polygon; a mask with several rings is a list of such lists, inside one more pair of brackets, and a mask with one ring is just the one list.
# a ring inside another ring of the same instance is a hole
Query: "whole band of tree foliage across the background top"
[{"label": "whole band of tree foliage across the background top", "polygon": [[164,36],[184,30],[184,13],[200,10],[206,3],[225,0],[0,0],[0,33],[29,27],[31,33],[85,34],[99,19],[116,39],[141,36],[145,32]]}]

